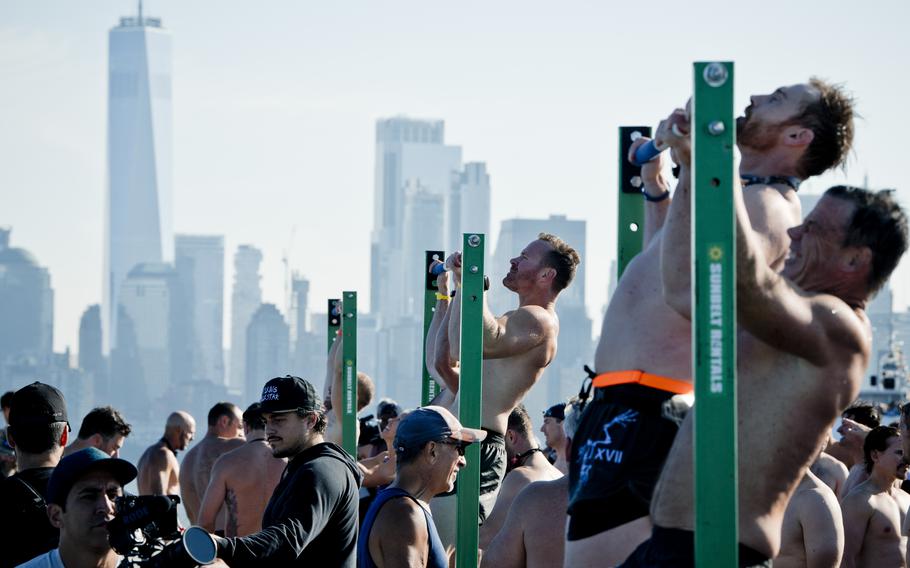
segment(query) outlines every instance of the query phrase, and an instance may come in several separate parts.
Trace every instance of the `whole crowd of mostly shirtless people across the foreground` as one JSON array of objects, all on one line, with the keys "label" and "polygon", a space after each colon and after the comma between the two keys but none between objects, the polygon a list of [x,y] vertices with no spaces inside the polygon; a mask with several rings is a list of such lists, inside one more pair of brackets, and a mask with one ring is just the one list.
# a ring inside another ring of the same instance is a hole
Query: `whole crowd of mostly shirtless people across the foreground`
[{"label": "whole crowd of mostly shirtless people across the foreground", "polygon": [[[889,191],[835,186],[810,212],[797,198],[803,181],[843,165],[853,116],[841,87],[812,79],[751,97],[737,120],[743,567],[910,556],[910,405],[882,425],[877,407],[855,402],[871,357],[864,309],[907,248],[907,218]],[[196,422],[175,411],[135,467],[118,457],[131,428],[117,410],[92,410],[71,441],[57,389],[7,393],[0,568],[116,566],[107,527],[134,479],[140,495],[180,496],[219,565],[439,568],[476,553],[493,568],[694,566],[689,132],[688,108],[656,130],[670,151],[642,167],[642,252],[605,313],[592,388],[539,417],[544,446],[522,401],[556,354],[556,304],[581,259],[541,233],[502,281],[518,307],[497,316],[483,303],[479,428],[457,418],[459,252],[430,267],[442,265],[425,362],[442,390],[410,410],[381,400],[377,420],[356,424],[356,456],[340,446],[341,336],[321,395],[305,379],[272,378],[246,410],[214,404],[192,447]],[[375,393],[369,375],[357,384],[360,412]],[[474,443],[479,550],[456,551],[456,481]]]}]

